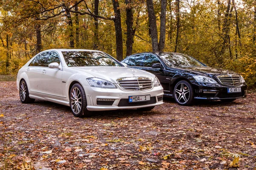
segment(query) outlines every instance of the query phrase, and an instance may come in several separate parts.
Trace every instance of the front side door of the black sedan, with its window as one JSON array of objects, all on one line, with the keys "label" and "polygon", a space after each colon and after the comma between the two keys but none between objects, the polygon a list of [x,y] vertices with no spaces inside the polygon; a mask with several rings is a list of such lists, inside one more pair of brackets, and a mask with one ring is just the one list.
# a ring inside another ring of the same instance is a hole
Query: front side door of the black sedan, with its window
[{"label": "front side door of the black sedan, with its window", "polygon": [[142,69],[156,75],[163,86],[163,90],[169,90],[169,85],[166,83],[165,79],[165,69],[163,65],[161,64],[160,68],[152,68],[152,64],[154,63],[161,62],[154,54],[145,54]]}]

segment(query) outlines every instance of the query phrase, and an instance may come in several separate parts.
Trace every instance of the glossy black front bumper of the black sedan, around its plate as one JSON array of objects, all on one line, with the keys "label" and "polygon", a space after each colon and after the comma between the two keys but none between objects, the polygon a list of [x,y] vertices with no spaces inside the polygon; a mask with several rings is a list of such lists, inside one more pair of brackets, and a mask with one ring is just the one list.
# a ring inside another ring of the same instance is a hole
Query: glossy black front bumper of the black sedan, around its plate
[{"label": "glossy black front bumper of the black sedan, around its plate", "polygon": [[[195,99],[219,100],[219,99],[239,99],[246,97],[247,85],[242,83],[236,87],[209,87],[201,84],[192,84],[195,90]],[[228,88],[241,88],[239,93],[228,93]]]}]

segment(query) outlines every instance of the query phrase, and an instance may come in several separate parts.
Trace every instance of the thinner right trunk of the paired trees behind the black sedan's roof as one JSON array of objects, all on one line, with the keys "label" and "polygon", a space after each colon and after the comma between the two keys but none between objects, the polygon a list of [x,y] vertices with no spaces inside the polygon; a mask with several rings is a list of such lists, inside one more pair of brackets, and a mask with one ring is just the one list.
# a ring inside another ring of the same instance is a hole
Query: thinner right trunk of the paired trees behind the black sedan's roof
[{"label": "thinner right trunk of the paired trees behind the black sedan's roof", "polygon": [[166,0],[161,0],[159,51],[163,51],[166,37]]}]

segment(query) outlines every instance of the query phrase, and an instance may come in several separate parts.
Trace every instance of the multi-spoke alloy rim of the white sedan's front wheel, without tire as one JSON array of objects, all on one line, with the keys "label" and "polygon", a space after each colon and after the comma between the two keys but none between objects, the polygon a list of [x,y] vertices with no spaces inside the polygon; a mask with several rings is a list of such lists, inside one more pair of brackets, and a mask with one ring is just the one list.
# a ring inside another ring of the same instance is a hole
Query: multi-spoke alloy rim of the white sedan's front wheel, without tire
[{"label": "multi-spoke alloy rim of the white sedan's front wheel, without tire", "polygon": [[73,88],[71,92],[71,108],[74,113],[79,114],[81,111],[81,106],[82,106],[82,98],[81,98],[81,92],[79,91],[78,88]]}]

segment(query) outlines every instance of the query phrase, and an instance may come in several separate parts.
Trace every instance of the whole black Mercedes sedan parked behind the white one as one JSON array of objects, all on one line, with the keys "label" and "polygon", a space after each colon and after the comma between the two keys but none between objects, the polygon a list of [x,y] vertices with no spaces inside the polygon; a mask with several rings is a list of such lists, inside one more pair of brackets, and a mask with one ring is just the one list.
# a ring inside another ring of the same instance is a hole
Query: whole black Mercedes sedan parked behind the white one
[{"label": "whole black Mercedes sedan parked behind the white one", "polygon": [[246,97],[247,84],[240,74],[207,67],[186,54],[145,52],[128,56],[122,63],[155,74],[165,96],[179,105],[190,105],[194,99],[232,102]]}]

